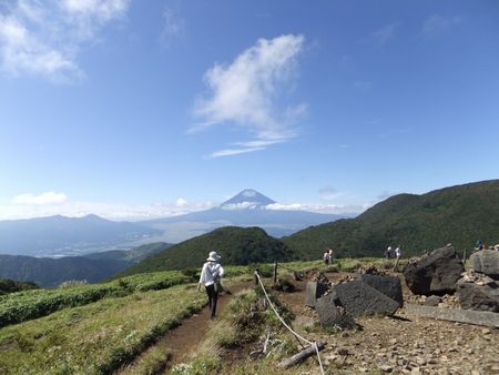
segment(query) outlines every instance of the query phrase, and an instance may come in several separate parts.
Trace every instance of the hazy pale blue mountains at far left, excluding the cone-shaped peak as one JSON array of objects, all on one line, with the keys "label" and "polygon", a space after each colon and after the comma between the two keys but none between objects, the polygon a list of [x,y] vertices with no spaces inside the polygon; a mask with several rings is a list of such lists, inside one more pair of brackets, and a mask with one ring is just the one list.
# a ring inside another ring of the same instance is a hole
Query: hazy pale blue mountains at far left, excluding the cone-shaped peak
[{"label": "hazy pale blue mountains at far left, excluding the cone-shaped peak", "polygon": [[84,217],[49,216],[0,221],[0,254],[32,256],[81,255],[119,247],[162,234],[136,223]]}]

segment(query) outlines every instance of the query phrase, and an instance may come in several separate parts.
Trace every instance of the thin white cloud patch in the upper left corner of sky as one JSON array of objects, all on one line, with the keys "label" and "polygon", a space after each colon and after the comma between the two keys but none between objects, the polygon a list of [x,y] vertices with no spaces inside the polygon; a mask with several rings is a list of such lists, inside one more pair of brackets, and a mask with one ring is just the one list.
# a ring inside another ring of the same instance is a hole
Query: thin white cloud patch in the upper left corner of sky
[{"label": "thin white cloud patch in the upper left corner of sky", "polygon": [[0,68],[11,77],[67,82],[83,75],[77,57],[130,0],[13,0],[0,9]]}]

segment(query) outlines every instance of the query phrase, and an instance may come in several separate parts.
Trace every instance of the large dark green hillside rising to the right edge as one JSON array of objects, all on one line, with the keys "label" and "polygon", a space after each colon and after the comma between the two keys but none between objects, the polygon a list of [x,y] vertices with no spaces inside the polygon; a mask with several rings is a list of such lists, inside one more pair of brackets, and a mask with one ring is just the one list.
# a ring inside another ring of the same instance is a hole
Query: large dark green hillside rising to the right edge
[{"label": "large dark green hillside rising to the right edge", "polygon": [[395,195],[356,219],[310,226],[282,240],[301,259],[317,259],[325,247],[340,256],[383,256],[388,245],[401,245],[404,255],[420,254],[449,242],[469,251],[477,239],[499,243],[499,180]]}]

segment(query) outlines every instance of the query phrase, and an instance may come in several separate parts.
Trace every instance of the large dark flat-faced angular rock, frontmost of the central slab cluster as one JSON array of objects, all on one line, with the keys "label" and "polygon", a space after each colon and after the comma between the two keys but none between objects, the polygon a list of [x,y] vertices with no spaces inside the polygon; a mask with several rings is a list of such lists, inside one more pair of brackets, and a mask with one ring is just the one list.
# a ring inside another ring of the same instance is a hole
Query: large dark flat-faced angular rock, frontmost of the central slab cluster
[{"label": "large dark flat-faced angular rock, frontmost of the central slab cluster", "polygon": [[353,316],[393,315],[399,303],[359,280],[334,285],[336,304],[345,307]]}]

